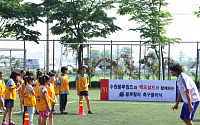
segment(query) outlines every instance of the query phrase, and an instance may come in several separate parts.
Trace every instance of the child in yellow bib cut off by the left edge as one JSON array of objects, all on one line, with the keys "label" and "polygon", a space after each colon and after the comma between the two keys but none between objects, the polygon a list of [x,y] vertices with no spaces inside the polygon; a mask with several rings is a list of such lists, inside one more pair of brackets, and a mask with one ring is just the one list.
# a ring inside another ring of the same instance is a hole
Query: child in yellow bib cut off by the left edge
[{"label": "child in yellow bib cut off by the left edge", "polygon": [[4,107],[4,102],[3,102],[3,99],[4,99],[4,93],[5,93],[5,82],[3,80],[3,73],[0,72],[0,111],[1,111],[1,108],[5,111],[5,107]]}]

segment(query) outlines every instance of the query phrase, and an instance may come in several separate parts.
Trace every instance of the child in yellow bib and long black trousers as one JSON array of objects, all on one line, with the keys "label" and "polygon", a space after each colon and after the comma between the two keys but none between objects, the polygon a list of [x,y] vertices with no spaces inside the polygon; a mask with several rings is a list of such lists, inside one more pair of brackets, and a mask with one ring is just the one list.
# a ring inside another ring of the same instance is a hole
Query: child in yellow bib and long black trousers
[{"label": "child in yellow bib and long black trousers", "polygon": [[68,114],[65,110],[67,105],[67,95],[69,95],[69,80],[67,76],[68,68],[63,66],[61,68],[62,74],[58,77],[58,90],[60,95],[60,112],[61,114]]}]

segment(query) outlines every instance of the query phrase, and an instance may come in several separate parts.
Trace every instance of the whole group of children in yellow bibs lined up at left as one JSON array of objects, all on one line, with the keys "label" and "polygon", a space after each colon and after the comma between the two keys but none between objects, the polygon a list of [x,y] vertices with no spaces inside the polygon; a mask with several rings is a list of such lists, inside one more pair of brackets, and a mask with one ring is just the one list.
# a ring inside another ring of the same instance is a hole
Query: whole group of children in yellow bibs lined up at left
[{"label": "whole group of children in yellow bibs lined up at left", "polygon": [[[47,125],[49,118],[50,125],[53,125],[53,114],[57,114],[55,105],[57,103],[56,96],[59,94],[60,112],[68,114],[65,110],[67,105],[67,96],[69,95],[69,80],[67,76],[68,68],[61,68],[61,75],[56,78],[56,72],[52,70],[47,74],[41,71],[37,72],[37,80],[34,81],[33,73],[22,70],[20,73],[13,71],[10,79],[5,84],[3,73],[0,72],[0,109],[4,110],[2,125],[15,125],[12,122],[12,108],[16,99],[16,92],[19,94],[21,111],[23,113],[23,124],[25,112],[29,113],[30,125],[33,125],[33,116],[39,111],[38,125]],[[79,100],[86,99],[88,106],[88,114],[93,114],[90,110],[90,101],[88,94],[88,75],[86,67],[80,68],[80,74],[76,77],[76,90]],[[19,77],[20,76],[20,77]],[[4,105],[5,98],[5,105]],[[6,123],[6,115],[8,113],[9,123]]]}]

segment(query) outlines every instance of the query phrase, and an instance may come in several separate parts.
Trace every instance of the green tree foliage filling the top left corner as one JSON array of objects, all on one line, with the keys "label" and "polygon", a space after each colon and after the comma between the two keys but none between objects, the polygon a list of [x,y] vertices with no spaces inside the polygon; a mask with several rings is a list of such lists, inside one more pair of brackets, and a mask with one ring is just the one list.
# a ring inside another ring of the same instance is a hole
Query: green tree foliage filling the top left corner
[{"label": "green tree foliage filling the top left corner", "polygon": [[40,32],[31,30],[40,19],[42,8],[23,0],[0,1],[0,38],[16,37],[38,43]]}]

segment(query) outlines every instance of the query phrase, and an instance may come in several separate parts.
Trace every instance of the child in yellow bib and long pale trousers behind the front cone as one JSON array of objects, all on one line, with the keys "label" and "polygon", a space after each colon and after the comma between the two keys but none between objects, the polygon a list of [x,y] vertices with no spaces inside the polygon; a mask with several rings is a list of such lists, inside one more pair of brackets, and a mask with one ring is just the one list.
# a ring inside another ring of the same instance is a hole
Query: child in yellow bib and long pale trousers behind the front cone
[{"label": "child in yellow bib and long pale trousers behind the front cone", "polygon": [[30,125],[33,125],[33,116],[35,113],[34,110],[36,105],[35,92],[32,87],[32,85],[34,84],[34,78],[32,76],[28,76],[25,82],[27,82],[27,84],[24,91],[24,106],[27,107],[27,111],[29,114],[29,123]]}]

